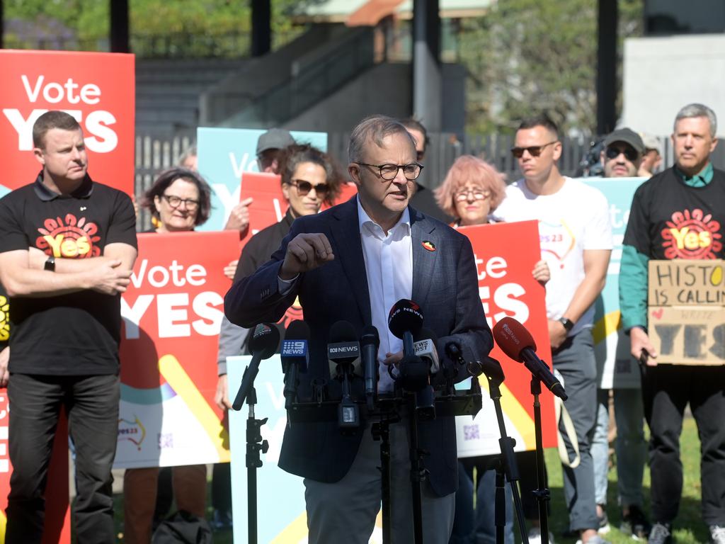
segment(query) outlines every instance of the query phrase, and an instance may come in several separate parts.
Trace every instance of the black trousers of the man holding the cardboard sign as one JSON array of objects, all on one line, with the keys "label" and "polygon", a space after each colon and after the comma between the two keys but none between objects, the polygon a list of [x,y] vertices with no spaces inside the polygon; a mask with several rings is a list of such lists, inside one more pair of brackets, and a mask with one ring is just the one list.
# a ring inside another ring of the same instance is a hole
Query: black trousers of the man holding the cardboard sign
[{"label": "black trousers of the man holding the cardboard sign", "polygon": [[725,525],[725,366],[660,364],[642,376],[650,426],[653,521],[671,523],[682,497],[679,439],[689,403],[700,435],[703,521]]}]

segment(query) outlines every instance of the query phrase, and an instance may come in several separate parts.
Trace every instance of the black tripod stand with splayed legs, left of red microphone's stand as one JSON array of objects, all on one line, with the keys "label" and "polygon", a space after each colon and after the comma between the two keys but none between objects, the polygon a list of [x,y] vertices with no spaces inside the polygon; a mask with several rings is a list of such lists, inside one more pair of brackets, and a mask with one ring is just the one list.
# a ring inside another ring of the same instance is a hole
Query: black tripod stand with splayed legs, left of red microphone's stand
[{"label": "black tripod stand with splayed legs, left of red microphone's stand", "polygon": [[[513,447],[516,445],[516,441],[513,440],[508,434],[506,434],[506,424],[503,419],[503,409],[501,408],[501,390],[500,385],[502,380],[494,379],[493,376],[485,374],[486,379],[489,382],[489,396],[494,403],[494,411],[496,412],[496,420],[498,421],[499,433],[501,438],[499,439],[499,447],[501,449],[501,456],[496,466],[496,501],[494,503],[494,519],[496,520],[496,543],[503,544],[504,542],[504,528],[506,526],[506,494],[504,489],[504,473],[506,479],[511,486],[513,493],[513,506],[516,512],[516,519],[518,520],[518,529],[521,535],[528,535],[526,532],[526,521],[523,518],[523,506],[521,505],[521,495],[518,490],[517,482],[521,477],[518,474],[518,464],[516,463],[516,456],[513,453]],[[476,379],[474,376],[473,379]]]}]

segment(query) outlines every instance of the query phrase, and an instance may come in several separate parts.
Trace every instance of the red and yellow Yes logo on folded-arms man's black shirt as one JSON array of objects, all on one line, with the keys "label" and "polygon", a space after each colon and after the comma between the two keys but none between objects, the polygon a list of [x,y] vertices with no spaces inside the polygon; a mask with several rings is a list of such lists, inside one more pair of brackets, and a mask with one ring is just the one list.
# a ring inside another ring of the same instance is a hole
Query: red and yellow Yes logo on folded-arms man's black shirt
[{"label": "red and yellow Yes logo on folded-arms man's black shirt", "polygon": [[49,218],[38,228],[41,236],[36,239],[36,246],[48,255],[64,258],[97,257],[101,255],[98,242],[101,240],[98,226],[86,218],[76,218],[67,213],[65,218]]}]

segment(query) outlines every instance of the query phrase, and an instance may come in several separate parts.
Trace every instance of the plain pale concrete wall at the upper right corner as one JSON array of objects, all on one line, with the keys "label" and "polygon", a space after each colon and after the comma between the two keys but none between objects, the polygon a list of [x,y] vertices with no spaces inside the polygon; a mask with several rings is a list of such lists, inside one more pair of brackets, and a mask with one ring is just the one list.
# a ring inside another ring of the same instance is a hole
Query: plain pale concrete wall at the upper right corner
[{"label": "plain pale concrete wall at the upper right corner", "polygon": [[666,136],[678,110],[700,102],[718,115],[725,137],[725,34],[630,38],[623,83],[624,126]]}]

